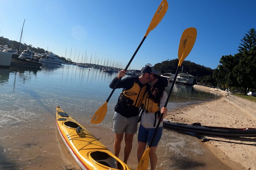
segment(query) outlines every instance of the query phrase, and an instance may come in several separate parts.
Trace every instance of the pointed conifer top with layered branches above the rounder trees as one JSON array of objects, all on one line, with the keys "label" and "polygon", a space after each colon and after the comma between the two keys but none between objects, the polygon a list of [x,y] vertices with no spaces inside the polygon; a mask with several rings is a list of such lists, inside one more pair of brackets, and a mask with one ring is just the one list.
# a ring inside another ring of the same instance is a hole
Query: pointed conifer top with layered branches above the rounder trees
[{"label": "pointed conifer top with layered branches above the rounder trees", "polygon": [[244,52],[251,50],[256,45],[256,32],[254,28],[251,28],[247,31],[248,34],[245,34],[244,38],[241,39],[241,46],[238,46],[239,52]]}]

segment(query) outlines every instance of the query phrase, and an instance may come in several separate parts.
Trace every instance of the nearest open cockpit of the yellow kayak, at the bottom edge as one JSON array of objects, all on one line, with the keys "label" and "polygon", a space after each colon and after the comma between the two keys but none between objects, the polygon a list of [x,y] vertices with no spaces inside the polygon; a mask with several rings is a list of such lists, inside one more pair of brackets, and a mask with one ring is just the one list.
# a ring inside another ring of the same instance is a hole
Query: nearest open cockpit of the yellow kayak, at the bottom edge
[{"label": "nearest open cockpit of the yellow kayak, at the bottom edge", "polygon": [[107,154],[106,152],[95,151],[90,153],[90,157],[100,165],[107,166],[109,168],[124,170],[123,165],[113,158],[111,155]]}]

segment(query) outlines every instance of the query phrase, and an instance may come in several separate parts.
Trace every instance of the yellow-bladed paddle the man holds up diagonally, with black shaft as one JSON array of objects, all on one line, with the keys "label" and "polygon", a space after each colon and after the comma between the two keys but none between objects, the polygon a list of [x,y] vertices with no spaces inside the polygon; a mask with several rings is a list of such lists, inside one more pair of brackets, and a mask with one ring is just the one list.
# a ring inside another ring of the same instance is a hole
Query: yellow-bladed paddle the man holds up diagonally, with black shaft
[{"label": "yellow-bladed paddle the man holds up diagonally, with black shaft", "polygon": [[[161,2],[161,4],[159,5],[158,7],[158,10],[156,10],[155,12],[155,15],[153,16],[150,24],[149,24],[149,27],[148,29],[146,30],[146,34],[144,35],[142,41],[140,42],[139,46],[137,47],[136,51],[134,52],[132,58],[130,59],[129,63],[127,64],[126,68],[124,69],[125,71],[128,69],[128,67],[130,66],[130,63],[132,62],[133,58],[135,57],[135,55],[137,54],[140,46],[143,44],[144,40],[146,39],[146,37],[148,36],[149,32],[151,30],[153,30],[159,23],[160,21],[162,20],[162,18],[164,17],[166,11],[168,9],[168,3],[166,0],[163,0]],[[107,113],[107,103],[108,101],[110,100],[112,94],[114,93],[114,91],[116,90],[116,86],[117,84],[119,83],[119,81],[121,80],[122,78],[119,78],[116,85],[114,86],[110,96],[108,96],[106,102],[100,107],[98,108],[98,110],[96,111],[96,113],[92,116],[92,119],[91,119],[91,123],[92,124],[98,124],[98,123],[101,123],[102,120],[105,118],[106,116],[106,113]]]}]

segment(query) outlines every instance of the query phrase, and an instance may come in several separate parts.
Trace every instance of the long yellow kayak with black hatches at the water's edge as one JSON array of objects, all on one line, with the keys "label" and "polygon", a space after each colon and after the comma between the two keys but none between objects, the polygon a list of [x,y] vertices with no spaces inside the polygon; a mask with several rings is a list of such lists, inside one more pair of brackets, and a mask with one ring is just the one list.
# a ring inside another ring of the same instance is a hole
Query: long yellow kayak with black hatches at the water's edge
[{"label": "long yellow kayak with black hatches at the water's edge", "polygon": [[131,170],[58,106],[56,119],[62,140],[82,170]]}]

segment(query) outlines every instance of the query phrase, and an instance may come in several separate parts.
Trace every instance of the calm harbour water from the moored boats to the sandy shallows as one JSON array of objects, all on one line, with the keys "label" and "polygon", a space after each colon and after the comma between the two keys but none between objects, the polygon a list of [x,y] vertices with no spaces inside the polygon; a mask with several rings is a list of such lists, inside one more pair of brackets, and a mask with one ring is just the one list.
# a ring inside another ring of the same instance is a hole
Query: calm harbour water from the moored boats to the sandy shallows
[{"label": "calm harbour water from the moored boats to the sandy shallows", "polygon": [[[102,142],[112,147],[113,109],[121,89],[117,89],[108,102],[107,115],[101,124],[92,125],[90,119],[106,101],[112,91],[109,84],[116,76],[117,73],[73,65],[44,65],[40,70],[0,69],[0,169],[33,169],[31,166],[50,157],[46,153],[56,154],[64,147],[59,146],[62,141],[55,135],[57,105],[85,127],[92,128],[93,134],[101,135],[105,140]],[[169,88],[170,85],[167,92]],[[219,97],[192,86],[175,85],[167,107],[170,110]],[[131,153],[133,162],[136,160],[136,137]],[[52,141],[57,142],[58,147],[48,151],[44,147],[46,142]],[[186,169],[188,164],[190,169],[214,166],[205,160],[206,153],[201,142],[193,137],[164,130],[158,149],[158,168]],[[27,157],[28,154],[31,156]],[[60,162],[65,164],[68,160],[60,159]]]}]

